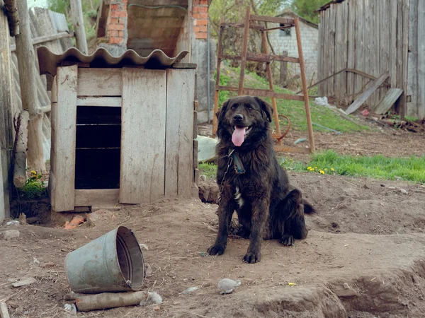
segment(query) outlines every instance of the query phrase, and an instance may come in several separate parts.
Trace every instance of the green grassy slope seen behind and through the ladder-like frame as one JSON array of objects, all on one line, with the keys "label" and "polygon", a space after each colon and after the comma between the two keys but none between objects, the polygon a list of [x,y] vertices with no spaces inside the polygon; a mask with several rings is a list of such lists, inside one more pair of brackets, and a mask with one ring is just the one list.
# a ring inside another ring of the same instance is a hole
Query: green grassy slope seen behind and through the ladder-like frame
[{"label": "green grassy slope seen behind and through the ladder-like frame", "polygon": [[[220,73],[220,86],[237,86],[239,81],[239,68],[231,68],[228,66],[222,67]],[[246,72],[244,86],[247,88],[260,88],[268,89],[268,81],[257,75],[256,73]],[[276,93],[293,94],[290,90],[275,86]],[[236,92],[220,91],[219,105],[221,106],[225,100],[236,96]],[[268,103],[271,103],[271,98],[264,98]],[[305,106],[304,102],[298,100],[277,100],[278,113],[284,114],[289,117],[291,122],[291,128],[306,131],[307,120],[305,119]],[[314,105],[310,102],[310,109],[312,113],[312,122],[327,126],[330,129],[341,131],[343,133],[350,133],[354,131],[365,131],[369,128],[360,124],[350,122],[346,119],[341,118],[339,114],[332,112],[326,107]],[[283,119],[281,122],[282,129],[285,129],[286,122]],[[273,123],[274,126],[274,123]],[[314,131],[327,131],[318,126],[313,126]]]}]

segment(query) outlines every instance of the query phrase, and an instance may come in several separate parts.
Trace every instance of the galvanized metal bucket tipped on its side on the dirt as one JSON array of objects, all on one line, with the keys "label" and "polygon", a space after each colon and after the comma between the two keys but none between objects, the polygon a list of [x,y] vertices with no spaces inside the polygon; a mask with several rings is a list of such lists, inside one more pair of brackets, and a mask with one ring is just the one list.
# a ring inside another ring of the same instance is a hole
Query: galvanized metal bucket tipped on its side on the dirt
[{"label": "galvanized metal bucket tipped on its side on the dirt", "polygon": [[74,293],[137,291],[145,264],[134,233],[120,226],[70,252],[65,271]]}]

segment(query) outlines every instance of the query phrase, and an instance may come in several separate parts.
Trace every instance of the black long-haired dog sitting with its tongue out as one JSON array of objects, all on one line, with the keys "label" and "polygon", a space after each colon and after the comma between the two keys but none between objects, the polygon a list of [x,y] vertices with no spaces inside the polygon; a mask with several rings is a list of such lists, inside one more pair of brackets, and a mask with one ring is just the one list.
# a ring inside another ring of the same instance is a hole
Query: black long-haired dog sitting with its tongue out
[{"label": "black long-haired dog sitting with its tongue out", "polygon": [[269,129],[272,113],[266,102],[250,96],[231,98],[217,112],[219,229],[210,255],[225,252],[235,210],[240,232],[250,237],[247,263],[260,261],[263,238],[293,245],[294,238],[307,237],[304,213],[315,210],[300,190],[290,187],[276,160]]}]

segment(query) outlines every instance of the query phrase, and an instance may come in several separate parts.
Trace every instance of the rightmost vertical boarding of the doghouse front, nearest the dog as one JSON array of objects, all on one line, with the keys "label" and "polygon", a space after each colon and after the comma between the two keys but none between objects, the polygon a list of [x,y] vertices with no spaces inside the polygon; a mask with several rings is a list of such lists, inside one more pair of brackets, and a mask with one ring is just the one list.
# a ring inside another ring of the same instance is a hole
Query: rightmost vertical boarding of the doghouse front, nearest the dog
[{"label": "rightmost vertical boarding of the doghouse front, nearest the dog", "polygon": [[194,70],[167,70],[165,195],[191,197]]}]

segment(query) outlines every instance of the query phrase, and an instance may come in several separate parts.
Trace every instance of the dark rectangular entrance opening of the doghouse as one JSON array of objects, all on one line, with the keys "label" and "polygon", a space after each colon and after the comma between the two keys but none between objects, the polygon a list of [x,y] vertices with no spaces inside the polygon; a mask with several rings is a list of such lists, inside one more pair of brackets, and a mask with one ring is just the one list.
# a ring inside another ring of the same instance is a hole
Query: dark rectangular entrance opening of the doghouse
[{"label": "dark rectangular entrance opening of the doghouse", "polygon": [[119,189],[121,107],[78,106],[75,189]]}]

